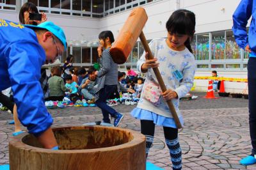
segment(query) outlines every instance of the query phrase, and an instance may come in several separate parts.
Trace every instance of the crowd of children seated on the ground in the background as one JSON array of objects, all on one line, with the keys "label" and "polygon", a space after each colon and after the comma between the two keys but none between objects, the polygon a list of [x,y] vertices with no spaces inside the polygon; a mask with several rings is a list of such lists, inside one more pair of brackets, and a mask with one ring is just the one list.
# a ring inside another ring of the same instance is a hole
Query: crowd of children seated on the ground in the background
[{"label": "crowd of children seated on the ground in the background", "polygon": [[[45,99],[45,105],[48,108],[95,106],[96,71],[95,66],[90,66],[88,70],[67,65],[52,67],[48,79],[49,97]],[[135,104],[140,98],[143,81],[138,75],[128,76],[125,72],[118,72],[118,86],[108,104]]]}]

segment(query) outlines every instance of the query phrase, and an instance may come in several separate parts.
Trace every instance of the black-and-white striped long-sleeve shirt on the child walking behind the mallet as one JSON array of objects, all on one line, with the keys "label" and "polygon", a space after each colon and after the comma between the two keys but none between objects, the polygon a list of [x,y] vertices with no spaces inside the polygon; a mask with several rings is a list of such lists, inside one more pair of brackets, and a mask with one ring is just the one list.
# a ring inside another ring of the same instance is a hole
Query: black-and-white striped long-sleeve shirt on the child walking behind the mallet
[{"label": "black-and-white striped long-sleeve shirt on the child walking behind the mallet", "polygon": [[118,79],[118,65],[113,61],[109,54],[109,49],[104,49],[102,57],[98,59],[100,70],[98,72],[99,81],[96,90],[96,100],[99,99],[99,91],[104,88],[105,85],[117,85]]}]

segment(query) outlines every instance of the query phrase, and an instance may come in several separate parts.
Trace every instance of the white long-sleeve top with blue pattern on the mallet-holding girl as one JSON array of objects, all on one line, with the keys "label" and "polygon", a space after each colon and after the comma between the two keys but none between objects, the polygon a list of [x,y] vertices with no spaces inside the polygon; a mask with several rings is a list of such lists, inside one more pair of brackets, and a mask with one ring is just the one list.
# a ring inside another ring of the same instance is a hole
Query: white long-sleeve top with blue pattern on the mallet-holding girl
[{"label": "white long-sleeve top with blue pattern on the mallet-holding girl", "polygon": [[[175,107],[175,111],[179,115],[179,98],[184,97],[193,86],[195,76],[195,57],[187,48],[182,51],[170,49],[170,47],[168,47],[166,44],[165,38],[152,40],[152,42],[149,43],[149,47],[153,56],[157,58],[157,62],[159,62],[158,68],[161,76],[163,77],[166,88],[174,90],[178,95],[178,98],[172,99],[172,103]],[[145,63],[145,52],[137,62],[139,72],[141,72],[141,66],[143,63]],[[182,80],[179,81],[175,75],[173,75],[175,70],[179,70],[182,73]],[[154,74],[152,68],[148,69],[147,72],[145,84],[148,82],[157,82],[156,75]],[[143,98],[143,93],[145,93],[145,86],[143,86],[141,91],[141,98],[137,107],[155,112],[161,116],[172,118],[172,114],[163,97],[160,97],[159,99],[160,104],[155,106]]]}]

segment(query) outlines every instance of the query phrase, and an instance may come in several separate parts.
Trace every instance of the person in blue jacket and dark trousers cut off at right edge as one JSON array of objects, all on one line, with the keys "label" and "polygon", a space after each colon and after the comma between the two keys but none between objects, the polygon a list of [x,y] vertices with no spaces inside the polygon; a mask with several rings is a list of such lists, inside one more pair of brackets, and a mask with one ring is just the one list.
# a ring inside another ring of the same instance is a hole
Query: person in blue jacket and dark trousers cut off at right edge
[{"label": "person in blue jacket and dark trousers cut off at right edge", "polygon": [[[252,141],[252,154],[243,158],[240,163],[251,165],[256,163],[256,0],[242,0],[233,15],[233,31],[236,42],[242,49],[250,52],[248,60],[248,91],[249,91],[249,125]],[[246,25],[252,17],[249,33]]]}]

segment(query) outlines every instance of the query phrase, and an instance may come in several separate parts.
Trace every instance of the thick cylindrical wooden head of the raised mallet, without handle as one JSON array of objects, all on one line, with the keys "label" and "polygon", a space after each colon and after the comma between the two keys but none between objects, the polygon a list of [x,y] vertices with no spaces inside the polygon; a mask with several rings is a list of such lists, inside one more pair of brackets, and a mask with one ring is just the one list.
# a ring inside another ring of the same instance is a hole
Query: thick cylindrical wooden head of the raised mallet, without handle
[{"label": "thick cylindrical wooden head of the raised mallet, without handle", "polygon": [[134,8],[109,50],[115,63],[124,64],[147,22],[144,8]]}]

